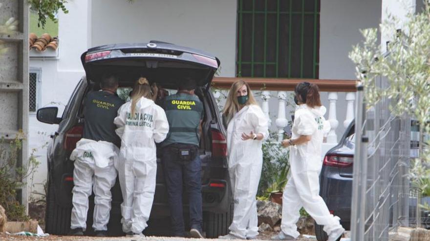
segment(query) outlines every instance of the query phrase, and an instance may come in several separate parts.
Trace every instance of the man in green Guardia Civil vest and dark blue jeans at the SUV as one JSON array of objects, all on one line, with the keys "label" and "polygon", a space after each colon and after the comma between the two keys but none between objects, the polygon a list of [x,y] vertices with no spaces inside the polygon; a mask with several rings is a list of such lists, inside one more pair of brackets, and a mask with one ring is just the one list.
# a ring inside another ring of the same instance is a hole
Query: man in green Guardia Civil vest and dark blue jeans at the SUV
[{"label": "man in green Guardia Civil vest and dark blue jeans at the SUV", "polygon": [[181,82],[176,94],[167,96],[162,106],[169,121],[169,133],[161,144],[162,163],[169,195],[172,232],[184,237],[182,210],[182,181],[190,201],[190,234],[203,238],[201,160],[199,157],[200,125],[203,104],[194,94],[195,81],[191,78]]}]

